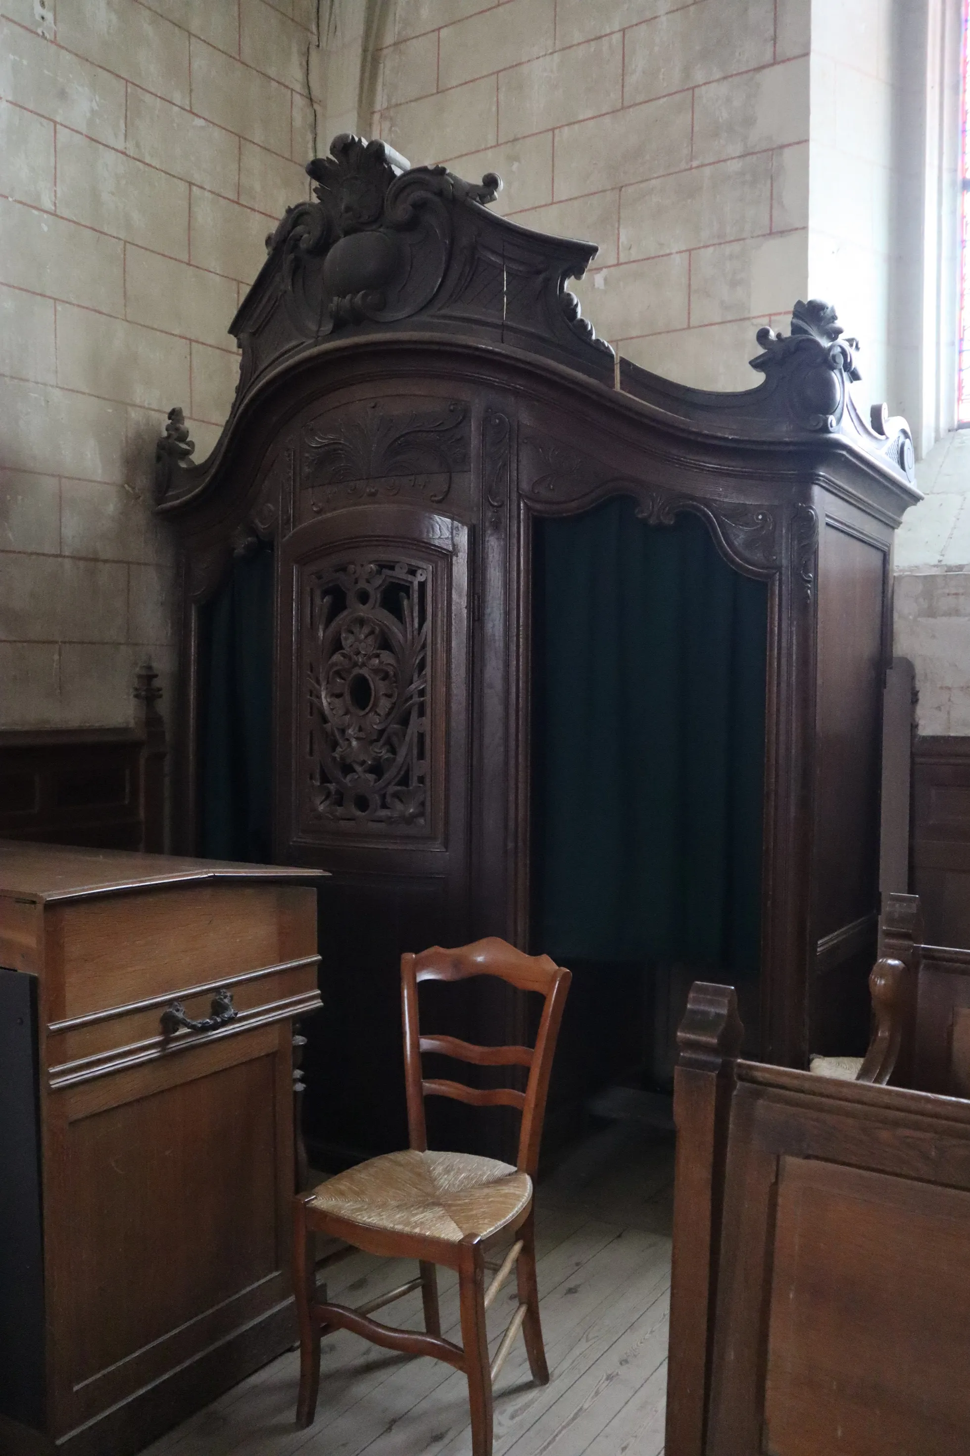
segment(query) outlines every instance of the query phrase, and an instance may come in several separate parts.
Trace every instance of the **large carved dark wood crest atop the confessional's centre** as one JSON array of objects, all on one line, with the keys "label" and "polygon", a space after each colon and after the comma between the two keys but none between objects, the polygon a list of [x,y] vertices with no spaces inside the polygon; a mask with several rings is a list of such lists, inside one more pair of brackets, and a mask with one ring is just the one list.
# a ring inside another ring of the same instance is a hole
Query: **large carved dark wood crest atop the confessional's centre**
[{"label": "large carved dark wood crest atop the confessional's centre", "polygon": [[286,210],[230,329],[243,347],[240,399],[282,355],[404,323],[487,335],[612,379],[612,349],[566,290],[596,248],[487,213],[502,186],[494,173],[464,182],[350,135],[307,172],[317,201]]}]

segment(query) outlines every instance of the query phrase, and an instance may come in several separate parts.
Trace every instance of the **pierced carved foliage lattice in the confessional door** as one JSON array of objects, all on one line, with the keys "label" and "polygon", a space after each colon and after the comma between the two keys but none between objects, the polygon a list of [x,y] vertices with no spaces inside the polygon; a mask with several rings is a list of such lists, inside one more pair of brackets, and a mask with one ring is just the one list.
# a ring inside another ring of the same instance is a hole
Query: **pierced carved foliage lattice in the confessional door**
[{"label": "pierced carved foliage lattice in the confessional door", "polygon": [[438,833],[429,632],[442,569],[384,547],[342,553],[307,574],[304,831],[371,840]]}]

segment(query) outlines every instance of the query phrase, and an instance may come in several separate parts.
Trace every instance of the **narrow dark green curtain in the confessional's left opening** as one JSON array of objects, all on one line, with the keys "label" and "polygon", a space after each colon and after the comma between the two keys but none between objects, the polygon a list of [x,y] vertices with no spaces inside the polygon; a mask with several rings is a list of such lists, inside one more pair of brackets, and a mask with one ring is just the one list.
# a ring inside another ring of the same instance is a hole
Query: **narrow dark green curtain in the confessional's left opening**
[{"label": "narrow dark green curtain in the confessional's left opening", "polygon": [[273,549],[233,561],[201,614],[201,850],[272,859]]}]

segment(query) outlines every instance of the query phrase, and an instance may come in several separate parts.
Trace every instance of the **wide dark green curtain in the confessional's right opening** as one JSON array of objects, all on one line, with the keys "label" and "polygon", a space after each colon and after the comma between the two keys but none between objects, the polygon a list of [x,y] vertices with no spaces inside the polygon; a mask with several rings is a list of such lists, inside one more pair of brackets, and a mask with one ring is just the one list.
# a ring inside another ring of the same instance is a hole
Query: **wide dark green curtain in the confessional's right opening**
[{"label": "wide dark green curtain in the confessional's right opening", "polygon": [[537,523],[537,945],[758,974],[768,588],[630,499]]}]

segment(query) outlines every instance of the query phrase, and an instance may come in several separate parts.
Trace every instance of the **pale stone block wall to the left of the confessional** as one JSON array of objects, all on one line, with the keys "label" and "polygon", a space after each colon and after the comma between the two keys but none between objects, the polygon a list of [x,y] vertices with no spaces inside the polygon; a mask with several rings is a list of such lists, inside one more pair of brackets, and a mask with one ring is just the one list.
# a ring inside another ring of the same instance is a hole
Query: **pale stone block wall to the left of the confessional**
[{"label": "pale stone block wall to the left of the confessional", "polygon": [[316,0],[0,0],[0,725],[172,719],[154,440],[215,441],[227,328],[307,195]]}]

